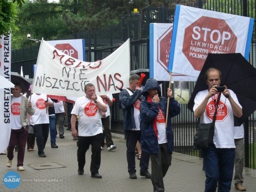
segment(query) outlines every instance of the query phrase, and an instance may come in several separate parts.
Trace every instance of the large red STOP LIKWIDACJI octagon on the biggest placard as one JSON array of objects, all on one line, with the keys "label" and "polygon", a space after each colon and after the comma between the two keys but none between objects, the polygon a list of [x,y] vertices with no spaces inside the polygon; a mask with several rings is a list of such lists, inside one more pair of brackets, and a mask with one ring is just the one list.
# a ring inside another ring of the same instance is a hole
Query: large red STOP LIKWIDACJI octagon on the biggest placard
[{"label": "large red STOP LIKWIDACJI octagon on the biggest placard", "polygon": [[235,53],[237,37],[225,20],[202,16],[185,29],[182,52],[200,71],[208,53]]}]

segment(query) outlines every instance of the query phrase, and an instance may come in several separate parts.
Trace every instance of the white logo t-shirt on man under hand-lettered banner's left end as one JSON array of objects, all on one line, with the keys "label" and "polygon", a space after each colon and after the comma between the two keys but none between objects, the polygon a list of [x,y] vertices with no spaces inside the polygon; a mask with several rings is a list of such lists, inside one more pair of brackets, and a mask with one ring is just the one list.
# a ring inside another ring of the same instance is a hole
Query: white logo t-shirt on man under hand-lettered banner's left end
[{"label": "white logo t-shirt on man under hand-lettered banner's left end", "polygon": [[52,102],[45,94],[33,94],[31,96],[32,106],[35,109],[34,115],[31,116],[31,124],[38,125],[43,123],[49,123],[49,114],[46,109],[46,102]]}]

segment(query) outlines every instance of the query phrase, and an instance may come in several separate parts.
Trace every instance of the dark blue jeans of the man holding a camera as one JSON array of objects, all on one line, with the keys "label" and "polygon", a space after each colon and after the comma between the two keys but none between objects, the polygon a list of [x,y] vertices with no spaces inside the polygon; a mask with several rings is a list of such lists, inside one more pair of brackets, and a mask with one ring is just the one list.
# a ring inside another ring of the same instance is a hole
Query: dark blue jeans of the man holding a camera
[{"label": "dark blue jeans of the man holding a camera", "polygon": [[214,144],[202,150],[205,169],[205,192],[229,192],[235,163],[235,148],[216,148]]}]

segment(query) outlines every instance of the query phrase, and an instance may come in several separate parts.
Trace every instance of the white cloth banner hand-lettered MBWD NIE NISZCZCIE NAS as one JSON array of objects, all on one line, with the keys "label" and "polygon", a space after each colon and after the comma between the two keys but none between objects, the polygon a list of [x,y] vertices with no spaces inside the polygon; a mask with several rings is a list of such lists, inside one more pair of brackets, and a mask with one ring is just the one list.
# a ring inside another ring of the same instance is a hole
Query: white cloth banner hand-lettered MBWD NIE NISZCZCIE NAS
[{"label": "white cloth banner hand-lettered MBWD NIE NISZCZCIE NAS", "polygon": [[42,40],[32,92],[57,96],[84,96],[92,83],[97,95],[115,94],[129,83],[130,39],[105,59],[88,63],[54,48]]}]

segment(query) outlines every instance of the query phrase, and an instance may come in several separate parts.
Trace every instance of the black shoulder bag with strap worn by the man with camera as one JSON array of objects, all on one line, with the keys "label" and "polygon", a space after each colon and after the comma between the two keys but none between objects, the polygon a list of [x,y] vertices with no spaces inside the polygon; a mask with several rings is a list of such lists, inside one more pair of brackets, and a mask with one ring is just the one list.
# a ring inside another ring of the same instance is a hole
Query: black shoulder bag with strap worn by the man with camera
[{"label": "black shoulder bag with strap worn by the man with camera", "polygon": [[218,100],[216,104],[216,110],[214,113],[214,118],[211,123],[198,123],[197,132],[194,135],[193,149],[198,150],[201,148],[209,147],[209,144],[214,143],[214,126],[217,115],[217,106],[220,102],[221,94],[218,95]]}]

